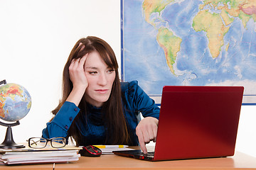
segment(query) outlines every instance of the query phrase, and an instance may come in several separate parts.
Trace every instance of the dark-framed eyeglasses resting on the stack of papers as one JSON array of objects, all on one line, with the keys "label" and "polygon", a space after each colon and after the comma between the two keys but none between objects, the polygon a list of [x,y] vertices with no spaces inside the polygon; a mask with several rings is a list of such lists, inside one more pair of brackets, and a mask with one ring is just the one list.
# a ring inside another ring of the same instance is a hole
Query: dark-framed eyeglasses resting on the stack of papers
[{"label": "dark-framed eyeglasses resting on the stack of papers", "polygon": [[65,147],[65,137],[53,137],[51,139],[45,139],[43,137],[31,137],[28,139],[28,147],[31,148],[44,148],[47,143],[50,142],[50,146],[54,148]]}]

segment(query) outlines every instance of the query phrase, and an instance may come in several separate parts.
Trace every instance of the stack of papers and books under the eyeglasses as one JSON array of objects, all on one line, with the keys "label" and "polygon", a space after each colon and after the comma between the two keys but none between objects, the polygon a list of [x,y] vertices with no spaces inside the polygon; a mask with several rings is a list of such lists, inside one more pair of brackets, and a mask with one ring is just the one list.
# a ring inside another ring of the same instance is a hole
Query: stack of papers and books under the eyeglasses
[{"label": "stack of papers and books under the eyeglasses", "polygon": [[0,149],[0,164],[40,164],[78,161],[80,147],[66,145],[62,148]]}]

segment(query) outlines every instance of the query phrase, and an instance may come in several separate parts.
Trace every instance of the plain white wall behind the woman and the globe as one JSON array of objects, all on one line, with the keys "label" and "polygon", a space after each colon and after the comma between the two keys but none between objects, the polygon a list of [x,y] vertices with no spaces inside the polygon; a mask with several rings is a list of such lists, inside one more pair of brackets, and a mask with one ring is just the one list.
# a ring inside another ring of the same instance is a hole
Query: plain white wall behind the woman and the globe
[{"label": "plain white wall behind the woman and the globe", "polygon": [[[12,128],[15,142],[41,136],[77,40],[106,40],[120,63],[119,0],[0,0],[0,21],[0,81],[21,84],[32,96],[31,111]],[[255,121],[256,106],[242,106],[237,149],[256,157]],[[5,132],[0,127],[0,143]]]}]

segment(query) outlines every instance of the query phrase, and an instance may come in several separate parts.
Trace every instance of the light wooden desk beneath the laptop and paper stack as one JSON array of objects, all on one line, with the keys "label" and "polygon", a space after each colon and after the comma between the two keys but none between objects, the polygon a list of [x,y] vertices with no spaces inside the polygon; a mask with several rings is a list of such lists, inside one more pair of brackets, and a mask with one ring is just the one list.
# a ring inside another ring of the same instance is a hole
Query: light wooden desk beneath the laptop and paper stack
[{"label": "light wooden desk beneath the laptop and paper stack", "polygon": [[[256,169],[256,157],[251,157],[241,152],[236,152],[233,157],[186,159],[178,161],[146,162],[128,157],[119,157],[114,154],[101,157],[80,157],[78,162],[69,164],[55,164],[55,170],[67,169]],[[4,166],[0,169],[53,169],[53,164]]]}]

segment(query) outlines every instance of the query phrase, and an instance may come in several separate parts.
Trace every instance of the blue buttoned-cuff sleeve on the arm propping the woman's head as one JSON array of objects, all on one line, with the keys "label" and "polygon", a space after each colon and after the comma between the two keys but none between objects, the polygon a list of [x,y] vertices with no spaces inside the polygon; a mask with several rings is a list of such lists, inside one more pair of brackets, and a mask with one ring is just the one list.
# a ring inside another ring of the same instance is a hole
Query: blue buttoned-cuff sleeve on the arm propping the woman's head
[{"label": "blue buttoned-cuff sleeve on the arm propping the woman's head", "polygon": [[68,129],[79,111],[80,108],[75,106],[75,103],[65,101],[53,120],[46,123],[46,128],[43,129],[42,136],[46,139],[52,137],[67,137]]}]

